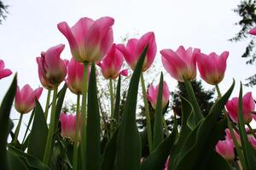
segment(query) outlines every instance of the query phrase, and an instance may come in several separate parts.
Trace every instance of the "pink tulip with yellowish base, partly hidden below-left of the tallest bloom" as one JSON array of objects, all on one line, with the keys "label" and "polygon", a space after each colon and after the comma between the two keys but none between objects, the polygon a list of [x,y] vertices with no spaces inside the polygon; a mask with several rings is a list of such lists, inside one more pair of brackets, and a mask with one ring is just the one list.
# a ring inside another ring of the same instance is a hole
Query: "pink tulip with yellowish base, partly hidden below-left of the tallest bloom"
[{"label": "pink tulip with yellowish base, partly hidden below-left of the tallest bloom", "polygon": [[[87,77],[90,76],[90,66],[87,67]],[[84,65],[76,61],[74,58],[67,65],[67,87],[74,94],[82,94],[84,77]]]}]

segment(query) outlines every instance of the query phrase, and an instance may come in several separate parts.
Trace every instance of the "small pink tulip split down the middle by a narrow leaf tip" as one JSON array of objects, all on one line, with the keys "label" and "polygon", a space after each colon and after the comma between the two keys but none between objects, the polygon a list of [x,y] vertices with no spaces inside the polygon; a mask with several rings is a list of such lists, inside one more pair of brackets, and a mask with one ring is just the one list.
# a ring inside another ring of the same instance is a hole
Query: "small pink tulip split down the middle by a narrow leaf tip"
[{"label": "small pink tulip split down the middle by a narrow leaf tip", "polygon": [[[148,88],[148,100],[151,105],[156,107],[159,84],[157,86],[150,85]],[[170,97],[170,91],[166,82],[163,83],[162,108],[165,108]]]}]

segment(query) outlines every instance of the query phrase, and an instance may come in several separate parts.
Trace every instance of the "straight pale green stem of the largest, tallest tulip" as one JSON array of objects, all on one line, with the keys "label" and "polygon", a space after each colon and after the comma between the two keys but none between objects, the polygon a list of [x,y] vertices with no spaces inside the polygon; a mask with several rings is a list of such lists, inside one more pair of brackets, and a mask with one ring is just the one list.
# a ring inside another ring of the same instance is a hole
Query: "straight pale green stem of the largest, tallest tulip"
[{"label": "straight pale green stem of the largest, tallest tulip", "polygon": [[82,108],[81,108],[81,155],[82,155],[82,169],[85,168],[85,150],[86,150],[86,105],[87,105],[87,69],[88,62],[84,62],[84,79],[83,79],[83,91],[82,91]]}]

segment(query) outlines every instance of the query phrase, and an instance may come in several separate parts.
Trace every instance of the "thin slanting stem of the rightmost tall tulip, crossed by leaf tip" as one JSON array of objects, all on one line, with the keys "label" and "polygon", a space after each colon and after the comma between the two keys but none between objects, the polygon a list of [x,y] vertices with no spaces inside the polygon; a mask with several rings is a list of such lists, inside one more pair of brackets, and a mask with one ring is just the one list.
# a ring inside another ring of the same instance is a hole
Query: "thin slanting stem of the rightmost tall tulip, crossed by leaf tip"
[{"label": "thin slanting stem of the rightmost tall tulip, crossed by leaf tip", "polygon": [[[222,97],[221,93],[220,93],[220,90],[218,88],[218,84],[215,85],[215,88],[216,88],[216,91],[217,91],[217,94],[218,94],[218,99],[220,99]],[[224,116],[227,118],[227,122],[228,122],[228,127],[230,129],[230,134],[231,134],[231,137],[233,139],[233,142],[235,144],[235,147],[236,147],[236,152],[237,152],[237,155],[239,156],[240,158],[240,161],[241,161],[241,165],[242,167],[245,167],[245,161],[244,161],[244,156],[242,155],[241,153],[241,149],[240,149],[240,146],[238,144],[238,141],[236,139],[236,136],[235,136],[235,133],[233,131],[233,127],[231,125],[231,122],[230,122],[230,117],[228,115],[228,112],[224,109],[223,110],[224,112]]]}]

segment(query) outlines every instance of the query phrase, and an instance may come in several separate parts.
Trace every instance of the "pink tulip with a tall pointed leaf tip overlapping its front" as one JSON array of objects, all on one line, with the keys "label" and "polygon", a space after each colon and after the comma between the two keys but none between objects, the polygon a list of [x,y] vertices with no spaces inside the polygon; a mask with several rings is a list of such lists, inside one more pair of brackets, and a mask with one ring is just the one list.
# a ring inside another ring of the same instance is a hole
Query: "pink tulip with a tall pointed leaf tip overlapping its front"
[{"label": "pink tulip with a tall pointed leaf tip overlapping its front", "polygon": [[154,32],[148,32],[140,39],[131,38],[126,47],[123,44],[117,45],[117,48],[124,54],[125,61],[134,70],[137,65],[137,60],[143,53],[143,49],[148,45],[148,51],[143,64],[143,71],[147,71],[149,66],[152,65],[156,54],[156,43]]}]

